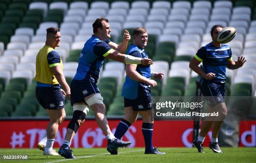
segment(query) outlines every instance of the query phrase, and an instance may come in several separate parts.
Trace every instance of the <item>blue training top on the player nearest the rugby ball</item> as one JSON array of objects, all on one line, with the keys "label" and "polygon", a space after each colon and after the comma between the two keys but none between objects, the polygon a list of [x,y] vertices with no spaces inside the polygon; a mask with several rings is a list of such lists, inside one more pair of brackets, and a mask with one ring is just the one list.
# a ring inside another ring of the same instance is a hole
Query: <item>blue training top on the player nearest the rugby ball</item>
[{"label": "blue training top on the player nearest the rugby ball", "polygon": [[222,44],[221,47],[215,47],[210,42],[201,47],[194,56],[203,64],[203,71],[208,74],[215,74],[212,81],[225,82],[226,68],[228,61],[232,60],[232,52],[228,45]]}]

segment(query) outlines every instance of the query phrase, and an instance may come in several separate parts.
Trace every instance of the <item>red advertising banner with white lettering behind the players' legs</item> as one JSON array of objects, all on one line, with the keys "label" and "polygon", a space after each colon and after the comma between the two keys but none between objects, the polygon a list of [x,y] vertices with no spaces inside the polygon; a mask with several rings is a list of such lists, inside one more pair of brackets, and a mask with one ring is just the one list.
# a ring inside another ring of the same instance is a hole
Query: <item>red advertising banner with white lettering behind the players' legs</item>
[{"label": "red advertising banner with white lettering behind the players' legs", "polygon": [[[115,129],[120,120],[108,120],[110,129]],[[54,147],[62,145],[67,124],[59,126]],[[0,134],[0,148],[36,148],[38,141],[44,136],[47,120],[13,120],[0,121],[3,133]],[[123,136],[123,140],[131,141],[132,147],[144,147],[141,131],[142,121],[134,123]],[[192,147],[193,121],[155,121],[153,145],[158,147]],[[242,121],[240,125],[240,146],[255,146],[256,121]],[[205,144],[211,138],[208,133]],[[95,120],[86,120],[79,128],[72,141],[72,148],[106,147],[107,140]]]}]

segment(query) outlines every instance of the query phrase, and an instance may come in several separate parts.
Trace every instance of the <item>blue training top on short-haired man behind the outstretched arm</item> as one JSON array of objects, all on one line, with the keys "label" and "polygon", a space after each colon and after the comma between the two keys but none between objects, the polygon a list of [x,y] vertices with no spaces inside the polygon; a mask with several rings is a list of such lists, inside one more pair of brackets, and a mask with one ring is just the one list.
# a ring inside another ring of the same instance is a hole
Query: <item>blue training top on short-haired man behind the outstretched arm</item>
[{"label": "blue training top on short-haired man behind the outstretched arm", "polygon": [[[148,55],[146,54],[144,49],[134,44],[131,44],[127,53],[133,57],[148,58]],[[149,79],[151,77],[150,66],[138,64],[136,67],[136,71],[143,77]],[[135,81],[130,77],[126,76],[125,82],[123,84],[122,96],[127,99],[136,99],[139,96],[151,96],[150,85],[143,82]]]}]

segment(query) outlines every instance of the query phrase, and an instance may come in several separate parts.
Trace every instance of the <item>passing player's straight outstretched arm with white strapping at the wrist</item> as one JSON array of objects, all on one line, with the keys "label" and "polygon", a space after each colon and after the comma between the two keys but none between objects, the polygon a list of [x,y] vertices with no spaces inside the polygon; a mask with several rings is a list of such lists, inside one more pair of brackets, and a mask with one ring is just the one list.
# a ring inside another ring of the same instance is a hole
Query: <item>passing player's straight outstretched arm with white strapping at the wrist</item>
[{"label": "passing player's straight outstretched arm with white strapping at the wrist", "polygon": [[116,50],[108,54],[106,58],[113,59],[115,61],[123,62],[126,64],[143,64],[143,65],[153,64],[152,59],[133,57],[131,55],[121,54]]}]

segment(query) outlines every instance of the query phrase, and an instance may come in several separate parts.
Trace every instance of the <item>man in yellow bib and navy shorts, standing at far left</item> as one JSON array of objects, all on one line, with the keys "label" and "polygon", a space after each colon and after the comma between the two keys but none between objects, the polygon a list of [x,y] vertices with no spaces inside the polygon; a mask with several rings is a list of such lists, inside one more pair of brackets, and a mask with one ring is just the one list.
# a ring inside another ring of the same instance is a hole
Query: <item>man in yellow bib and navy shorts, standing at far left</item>
[{"label": "man in yellow bib and navy shorts, standing at far left", "polygon": [[[62,73],[61,56],[54,50],[59,47],[61,33],[59,28],[46,29],[46,42],[36,56],[36,98],[49,114],[50,122],[47,126],[46,138],[38,143],[43,155],[59,156],[52,148],[59,125],[66,116],[64,110],[65,96],[70,100],[70,88]],[[62,90],[61,87],[64,89]],[[46,141],[46,143],[45,143]]]}]

